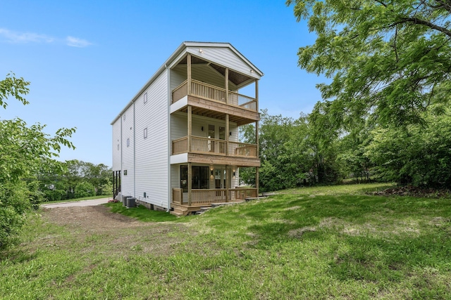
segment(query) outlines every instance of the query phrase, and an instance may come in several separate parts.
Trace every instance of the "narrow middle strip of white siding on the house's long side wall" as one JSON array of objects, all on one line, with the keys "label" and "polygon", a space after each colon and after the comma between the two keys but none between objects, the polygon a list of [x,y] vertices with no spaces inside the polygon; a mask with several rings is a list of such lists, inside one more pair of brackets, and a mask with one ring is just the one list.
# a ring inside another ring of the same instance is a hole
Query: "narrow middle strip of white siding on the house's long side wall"
[{"label": "narrow middle strip of white siding on the house's long side wall", "polygon": [[[134,144],[133,144],[133,105],[130,105],[124,113],[125,119],[122,118],[122,174],[121,183],[122,195],[133,196],[135,172],[133,170]],[[130,145],[127,146],[127,140]],[[116,148],[117,149],[117,148]],[[125,175],[125,170],[127,175]]]}]

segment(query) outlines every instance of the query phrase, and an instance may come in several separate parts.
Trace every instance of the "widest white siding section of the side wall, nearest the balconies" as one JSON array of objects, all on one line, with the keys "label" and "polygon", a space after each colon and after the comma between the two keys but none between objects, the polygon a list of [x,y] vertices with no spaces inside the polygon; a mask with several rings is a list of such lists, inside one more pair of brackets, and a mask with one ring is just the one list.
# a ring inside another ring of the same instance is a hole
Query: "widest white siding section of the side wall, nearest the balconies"
[{"label": "widest white siding section of the side wall, nearest the balconies", "polygon": [[[167,72],[164,71],[144,91],[147,93],[147,103],[144,104],[143,100],[135,101],[135,197],[166,208],[169,175],[167,90]],[[146,128],[147,138],[144,138]]]}]

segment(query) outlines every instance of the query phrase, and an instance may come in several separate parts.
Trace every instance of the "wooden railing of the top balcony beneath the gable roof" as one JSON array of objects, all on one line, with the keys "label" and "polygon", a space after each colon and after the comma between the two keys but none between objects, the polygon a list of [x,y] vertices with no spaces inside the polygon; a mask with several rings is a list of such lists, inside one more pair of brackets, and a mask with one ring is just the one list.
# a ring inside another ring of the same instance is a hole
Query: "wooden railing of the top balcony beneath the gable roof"
[{"label": "wooden railing of the top balcony beneath the gable roof", "polygon": [[[172,103],[177,102],[188,94],[188,81],[183,81],[172,92]],[[218,86],[205,84],[204,82],[191,80],[191,96],[197,96],[209,100],[222,102],[228,105],[238,106],[247,110],[257,111],[257,100],[248,96],[228,91],[228,99],[226,99],[226,89],[221,89]]]}]

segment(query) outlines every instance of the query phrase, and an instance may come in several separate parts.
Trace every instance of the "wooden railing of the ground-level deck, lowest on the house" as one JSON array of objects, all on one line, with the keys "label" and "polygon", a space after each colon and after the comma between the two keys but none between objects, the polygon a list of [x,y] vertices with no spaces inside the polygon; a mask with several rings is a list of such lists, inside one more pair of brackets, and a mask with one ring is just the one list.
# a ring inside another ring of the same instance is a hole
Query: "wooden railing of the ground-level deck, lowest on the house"
[{"label": "wooden railing of the ground-level deck, lowest on the house", "polygon": [[[228,195],[228,197],[226,197]],[[191,205],[223,203],[223,202],[242,202],[246,198],[257,197],[257,188],[232,188],[227,190],[211,189],[211,190],[191,190]],[[187,204],[185,197],[183,201],[183,190],[181,188],[173,188],[173,203]]]}]

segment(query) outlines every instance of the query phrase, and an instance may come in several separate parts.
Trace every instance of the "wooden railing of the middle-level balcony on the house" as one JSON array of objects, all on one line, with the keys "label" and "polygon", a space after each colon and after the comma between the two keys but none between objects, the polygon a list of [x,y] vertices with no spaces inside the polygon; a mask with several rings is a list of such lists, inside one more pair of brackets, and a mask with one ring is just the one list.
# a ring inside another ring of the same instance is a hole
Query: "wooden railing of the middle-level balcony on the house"
[{"label": "wooden railing of the middle-level balcony on the house", "polygon": [[232,157],[257,158],[257,145],[218,140],[216,138],[202,138],[191,136],[191,150],[188,149],[188,137],[178,138],[172,142],[172,154],[186,152],[202,153],[206,155],[228,155]]}]

